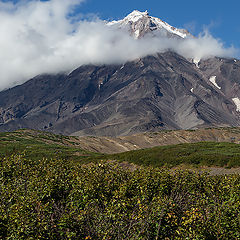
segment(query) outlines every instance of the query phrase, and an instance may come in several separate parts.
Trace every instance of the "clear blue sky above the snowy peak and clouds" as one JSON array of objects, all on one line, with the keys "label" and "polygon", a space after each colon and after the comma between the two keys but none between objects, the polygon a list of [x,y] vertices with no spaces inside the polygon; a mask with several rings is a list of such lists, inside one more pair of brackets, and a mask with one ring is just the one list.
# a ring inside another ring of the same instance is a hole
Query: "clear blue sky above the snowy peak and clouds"
[{"label": "clear blue sky above the snowy peak and clouds", "polygon": [[79,11],[97,14],[101,19],[121,19],[132,10],[148,10],[175,27],[185,27],[197,35],[208,27],[226,46],[240,48],[239,0],[86,0]]}]

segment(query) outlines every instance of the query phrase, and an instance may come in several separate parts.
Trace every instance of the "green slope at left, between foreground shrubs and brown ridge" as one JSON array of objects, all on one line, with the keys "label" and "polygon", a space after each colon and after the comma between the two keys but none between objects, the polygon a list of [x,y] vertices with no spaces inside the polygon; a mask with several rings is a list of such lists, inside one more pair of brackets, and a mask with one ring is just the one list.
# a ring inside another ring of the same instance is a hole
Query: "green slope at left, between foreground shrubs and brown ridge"
[{"label": "green slope at left, between foreground shrubs and brown ridge", "polygon": [[0,133],[0,157],[24,152],[25,157],[31,160],[61,158],[87,163],[102,156],[102,154],[81,149],[81,146],[73,140],[74,137],[70,138],[36,130]]}]

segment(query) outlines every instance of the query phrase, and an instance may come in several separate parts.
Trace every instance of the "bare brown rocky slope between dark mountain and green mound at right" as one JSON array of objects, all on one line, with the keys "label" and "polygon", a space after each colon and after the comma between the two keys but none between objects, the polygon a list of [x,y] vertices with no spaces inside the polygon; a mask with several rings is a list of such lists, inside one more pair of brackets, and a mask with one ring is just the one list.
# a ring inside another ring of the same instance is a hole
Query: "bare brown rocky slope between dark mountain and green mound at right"
[{"label": "bare brown rocky slope between dark mountain and green mound at right", "polygon": [[161,131],[121,137],[73,137],[81,148],[101,153],[120,153],[180,143],[240,142],[240,128],[209,128],[198,130]]}]

